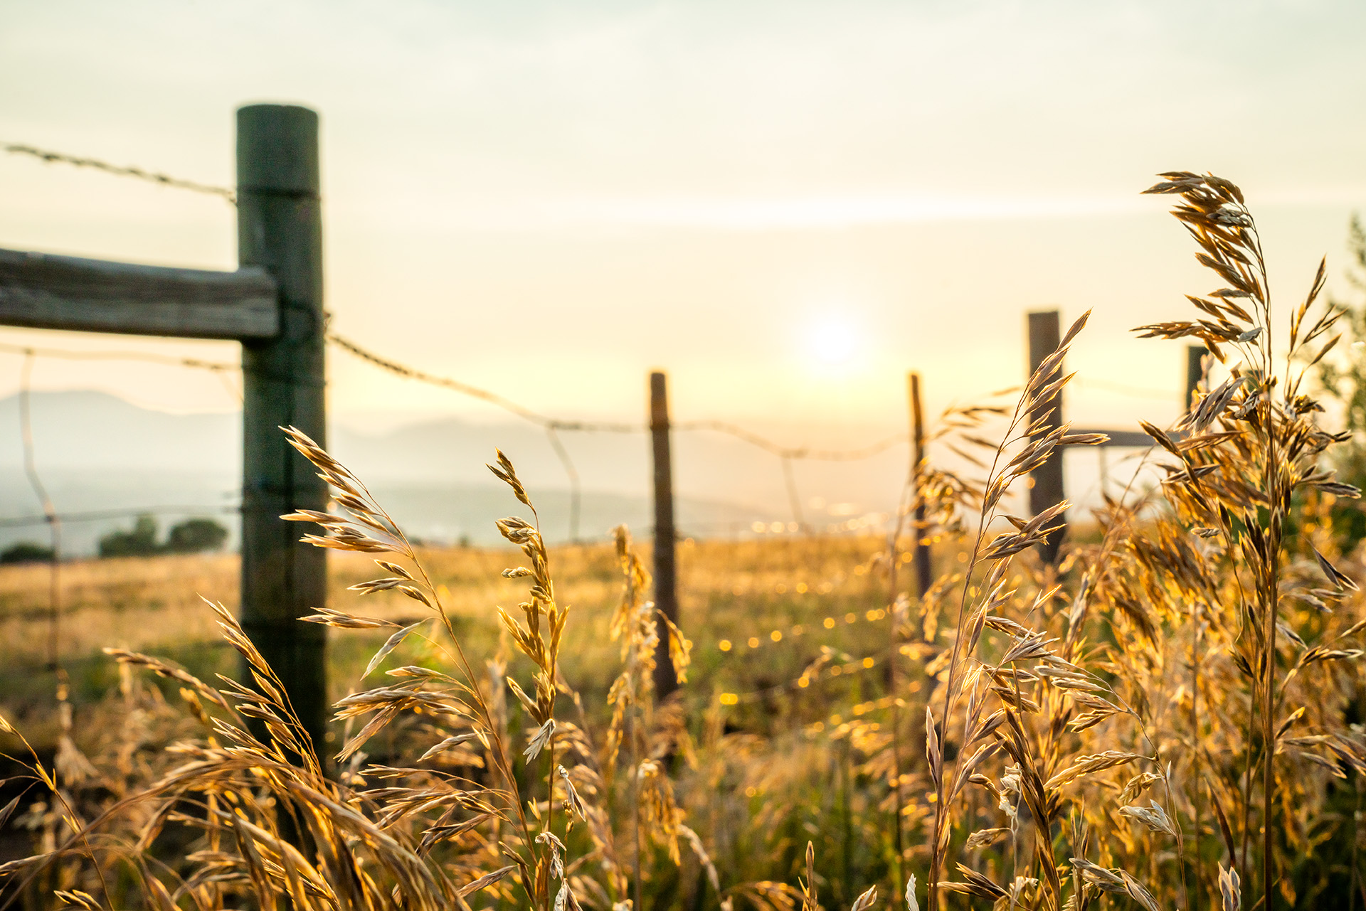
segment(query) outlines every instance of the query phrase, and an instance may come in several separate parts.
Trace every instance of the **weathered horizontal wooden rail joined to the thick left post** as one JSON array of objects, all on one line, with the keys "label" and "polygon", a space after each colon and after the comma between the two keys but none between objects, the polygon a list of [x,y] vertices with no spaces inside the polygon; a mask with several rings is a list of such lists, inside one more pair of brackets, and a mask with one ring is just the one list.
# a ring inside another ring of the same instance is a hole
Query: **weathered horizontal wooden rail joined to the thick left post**
[{"label": "weathered horizontal wooden rail joined to the thick left post", "polygon": [[0,250],[0,325],[189,339],[272,339],[265,269],[172,269]]}]

